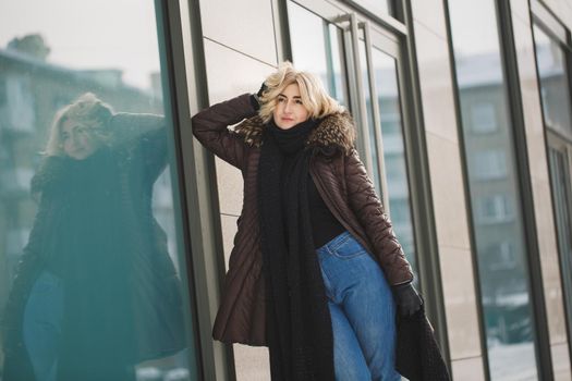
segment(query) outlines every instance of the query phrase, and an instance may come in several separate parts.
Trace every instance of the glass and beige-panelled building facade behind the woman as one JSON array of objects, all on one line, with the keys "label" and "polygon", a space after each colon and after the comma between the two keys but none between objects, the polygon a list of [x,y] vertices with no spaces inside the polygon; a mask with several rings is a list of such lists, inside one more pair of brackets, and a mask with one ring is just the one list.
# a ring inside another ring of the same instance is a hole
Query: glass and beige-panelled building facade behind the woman
[{"label": "glass and beige-panelled building facade behind the woman", "polygon": [[243,182],[191,116],[284,60],[352,113],[453,379],[572,379],[569,1],[106,1],[0,4],[0,381],[270,379],[211,339]]}]

